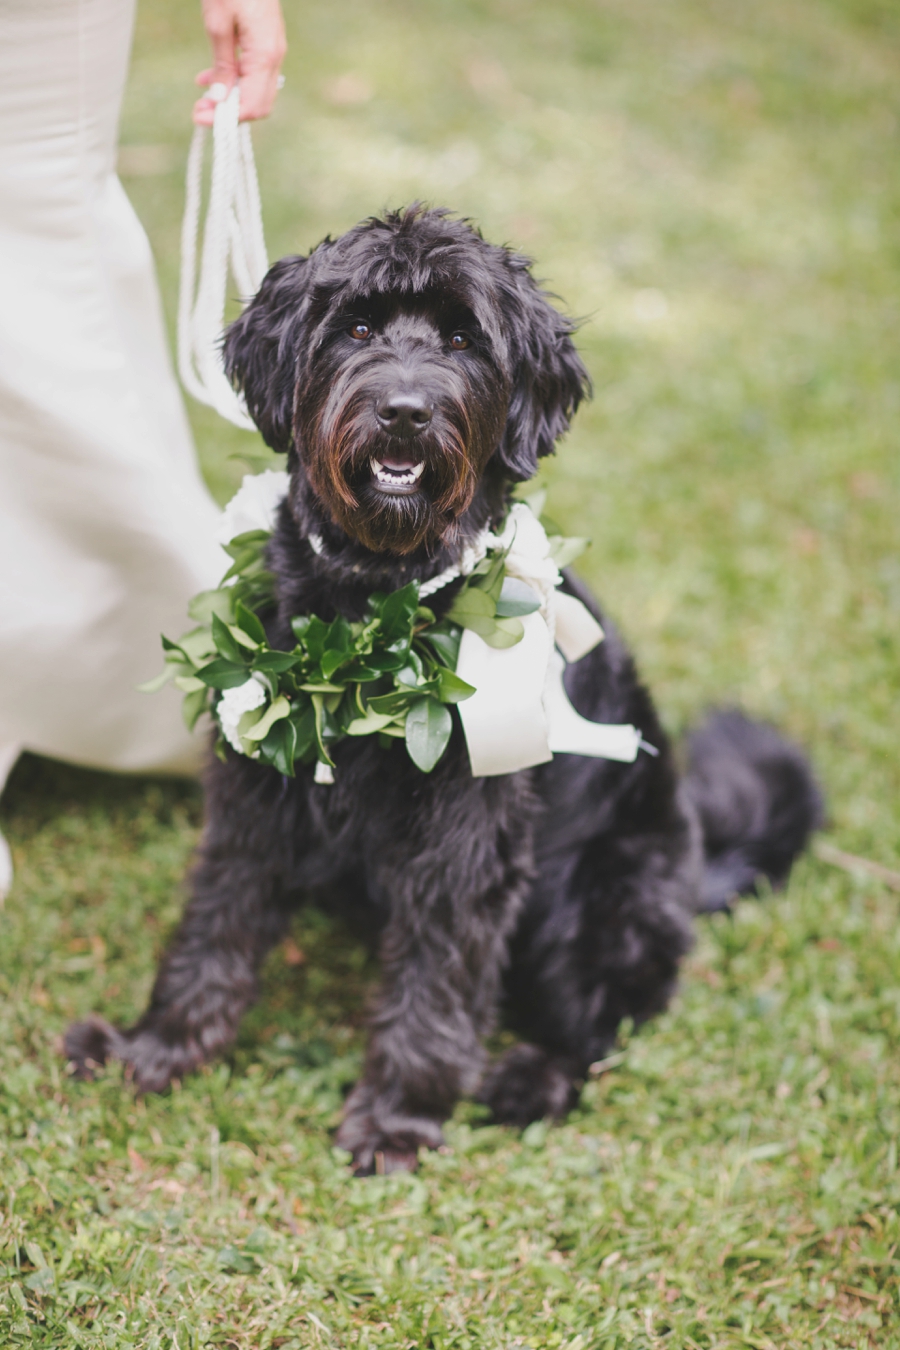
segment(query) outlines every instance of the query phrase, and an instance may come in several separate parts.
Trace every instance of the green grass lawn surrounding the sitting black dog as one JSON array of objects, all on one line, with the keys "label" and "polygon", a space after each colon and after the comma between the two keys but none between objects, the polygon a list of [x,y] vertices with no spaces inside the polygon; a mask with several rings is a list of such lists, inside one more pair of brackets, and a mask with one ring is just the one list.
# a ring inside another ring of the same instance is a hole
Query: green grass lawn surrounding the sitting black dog
[{"label": "green grass lawn surrounding the sitting black dog", "polygon": [[[897,868],[896,5],[290,0],[287,20],[255,132],[273,256],[413,197],[532,252],[586,316],[596,385],[551,512],[592,536],[582,571],[667,724],[723,698],[777,720],[835,842]],[[123,169],[170,315],[204,63],[194,5],[146,3]],[[260,446],[192,416],[224,498]],[[352,1181],[332,1131],[363,953],[310,914],[227,1064],[166,1098],[117,1069],[76,1084],[59,1034],[142,1007],[198,794],[27,759],[1,819],[1,1345],[900,1347],[880,884],[806,859],[700,923],[672,1010],[625,1029],[565,1126],[519,1137],[464,1104],[416,1177]]]}]

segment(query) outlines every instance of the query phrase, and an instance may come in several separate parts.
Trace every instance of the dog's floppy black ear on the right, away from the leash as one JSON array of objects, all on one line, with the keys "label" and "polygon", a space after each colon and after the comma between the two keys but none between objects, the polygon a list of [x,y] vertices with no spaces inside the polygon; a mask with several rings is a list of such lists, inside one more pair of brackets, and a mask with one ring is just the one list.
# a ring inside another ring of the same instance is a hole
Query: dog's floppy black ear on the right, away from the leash
[{"label": "dog's floppy black ear on the right, away from the leash", "polygon": [[549,302],[528,270],[513,255],[514,288],[503,300],[510,335],[511,394],[506,431],[498,456],[518,481],[533,478],[541,455],[551,455],[557,439],[591,381],[575,350],[575,325]]}]

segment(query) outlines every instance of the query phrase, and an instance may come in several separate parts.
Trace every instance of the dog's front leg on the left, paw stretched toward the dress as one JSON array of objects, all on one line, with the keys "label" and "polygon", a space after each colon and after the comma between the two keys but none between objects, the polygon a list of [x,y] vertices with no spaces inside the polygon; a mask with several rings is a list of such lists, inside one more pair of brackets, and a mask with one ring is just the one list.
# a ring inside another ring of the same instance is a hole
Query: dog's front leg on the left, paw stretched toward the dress
[{"label": "dog's front leg on the left, paw stretched toward the dress", "polygon": [[128,1030],[100,1019],[72,1026],[65,1048],[78,1075],[117,1058],[139,1088],[159,1092],[231,1044],[256,995],[259,963],[287,923],[293,801],[271,770],[235,759],[215,765],[192,899],[150,1006]]}]

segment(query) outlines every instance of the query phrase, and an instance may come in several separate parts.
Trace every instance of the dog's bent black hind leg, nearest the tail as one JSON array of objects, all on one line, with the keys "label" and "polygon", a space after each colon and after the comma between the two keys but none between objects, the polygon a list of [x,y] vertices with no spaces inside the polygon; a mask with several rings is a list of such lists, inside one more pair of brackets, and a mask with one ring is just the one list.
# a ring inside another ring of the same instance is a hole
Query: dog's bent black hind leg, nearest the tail
[{"label": "dog's bent black hind leg, nearest the tail", "polygon": [[563,1118],[625,1018],[661,1011],[691,946],[700,872],[690,813],[667,832],[615,830],[576,865],[542,868],[511,944],[506,1014],[525,1044],[491,1069],[480,1100],[497,1120]]}]

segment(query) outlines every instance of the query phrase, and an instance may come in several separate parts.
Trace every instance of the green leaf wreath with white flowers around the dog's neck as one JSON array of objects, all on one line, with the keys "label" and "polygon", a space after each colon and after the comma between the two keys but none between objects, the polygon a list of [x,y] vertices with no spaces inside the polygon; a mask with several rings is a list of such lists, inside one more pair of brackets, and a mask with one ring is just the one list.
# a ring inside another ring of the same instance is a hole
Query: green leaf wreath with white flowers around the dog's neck
[{"label": "green leaf wreath with white flowers around the dog's neck", "polygon": [[[294,617],[296,644],[281,651],[259,618],[275,602],[264,556],[270,537],[255,529],[224,545],[231,567],[216,590],[188,606],[197,626],[177,643],[162,639],[165,668],[142,690],[155,693],[174,680],[189,729],[210,713],[223,759],[228,742],[293,778],[297,763],[333,768],[331,751],[345,736],[378,736],[385,747],[403,740],[413,763],[429,774],[451,737],[449,705],[475,693],[456,675],[463,629],[491,647],[515,645],[522,616],[540,609],[536,591],[506,575],[507,551],[494,548],[440,621],[420,603],[418,582],[410,582],[370,595],[359,622]],[[565,566],[582,541],[556,536],[551,543]]]}]

